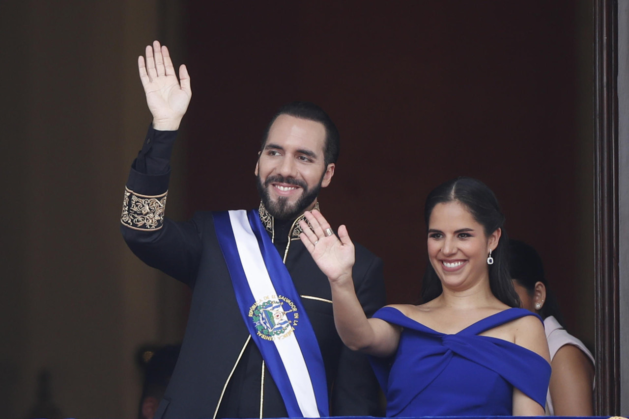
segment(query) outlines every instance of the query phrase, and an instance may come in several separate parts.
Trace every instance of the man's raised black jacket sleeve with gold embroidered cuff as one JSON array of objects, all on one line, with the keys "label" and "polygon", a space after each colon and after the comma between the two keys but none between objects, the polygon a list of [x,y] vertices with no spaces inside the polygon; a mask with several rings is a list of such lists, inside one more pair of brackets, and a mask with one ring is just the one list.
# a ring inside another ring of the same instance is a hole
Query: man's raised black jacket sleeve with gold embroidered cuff
[{"label": "man's raised black jacket sleeve with gold embroidered cuff", "polygon": [[164,217],[170,151],[176,131],[150,128],[126,183],[120,230],[143,262],[192,286],[201,254],[203,217],[187,222]]}]

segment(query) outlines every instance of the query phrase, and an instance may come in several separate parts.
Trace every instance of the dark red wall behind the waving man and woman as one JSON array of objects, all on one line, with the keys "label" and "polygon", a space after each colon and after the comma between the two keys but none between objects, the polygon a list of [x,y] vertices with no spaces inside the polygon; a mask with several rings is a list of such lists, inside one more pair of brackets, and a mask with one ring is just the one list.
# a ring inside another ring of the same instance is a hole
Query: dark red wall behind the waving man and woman
[{"label": "dark red wall behind the waving man and woman", "polygon": [[419,295],[426,194],[470,175],[498,195],[509,235],[540,251],[570,322],[591,229],[574,3],[189,1],[189,209],[257,205],[267,122],[313,101],[342,136],[321,208],[384,259],[389,302]]}]

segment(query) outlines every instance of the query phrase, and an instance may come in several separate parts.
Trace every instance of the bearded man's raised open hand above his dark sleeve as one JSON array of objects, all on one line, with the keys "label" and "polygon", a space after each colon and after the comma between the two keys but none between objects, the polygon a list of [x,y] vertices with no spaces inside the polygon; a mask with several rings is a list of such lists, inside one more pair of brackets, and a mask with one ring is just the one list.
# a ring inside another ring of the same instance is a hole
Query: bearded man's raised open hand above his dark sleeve
[{"label": "bearded man's raised open hand above his dark sleeve", "polygon": [[153,114],[153,128],[175,131],[188,109],[192,89],[186,65],[179,67],[179,80],[170,60],[168,48],[153,41],[147,45],[145,58],[138,57],[140,80],[147,94],[148,109]]}]

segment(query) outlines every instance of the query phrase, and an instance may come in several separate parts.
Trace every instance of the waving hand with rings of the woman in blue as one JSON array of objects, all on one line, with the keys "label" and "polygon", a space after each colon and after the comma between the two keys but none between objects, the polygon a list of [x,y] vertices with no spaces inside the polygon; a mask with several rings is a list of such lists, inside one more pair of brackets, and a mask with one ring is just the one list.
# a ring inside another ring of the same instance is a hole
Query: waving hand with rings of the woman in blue
[{"label": "waving hand with rings of the woman in blue", "polygon": [[315,263],[330,282],[352,281],[352,266],[355,260],[354,246],[345,226],[338,227],[338,237],[332,232],[330,223],[318,210],[304,212],[312,229],[303,220],[299,222],[299,238],[312,255]]}]

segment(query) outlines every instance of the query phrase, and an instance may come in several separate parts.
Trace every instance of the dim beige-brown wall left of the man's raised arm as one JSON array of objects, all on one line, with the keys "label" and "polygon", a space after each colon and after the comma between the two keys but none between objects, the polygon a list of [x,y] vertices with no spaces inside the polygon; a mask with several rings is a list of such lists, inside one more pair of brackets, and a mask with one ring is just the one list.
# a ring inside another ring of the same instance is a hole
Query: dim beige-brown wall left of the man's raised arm
[{"label": "dim beige-brown wall left of the man's raised arm", "polygon": [[168,2],[3,3],[0,417],[28,415],[42,367],[64,416],[133,417],[135,352],[180,339],[183,312],[118,231],[150,122],[136,57],[175,38]]}]

